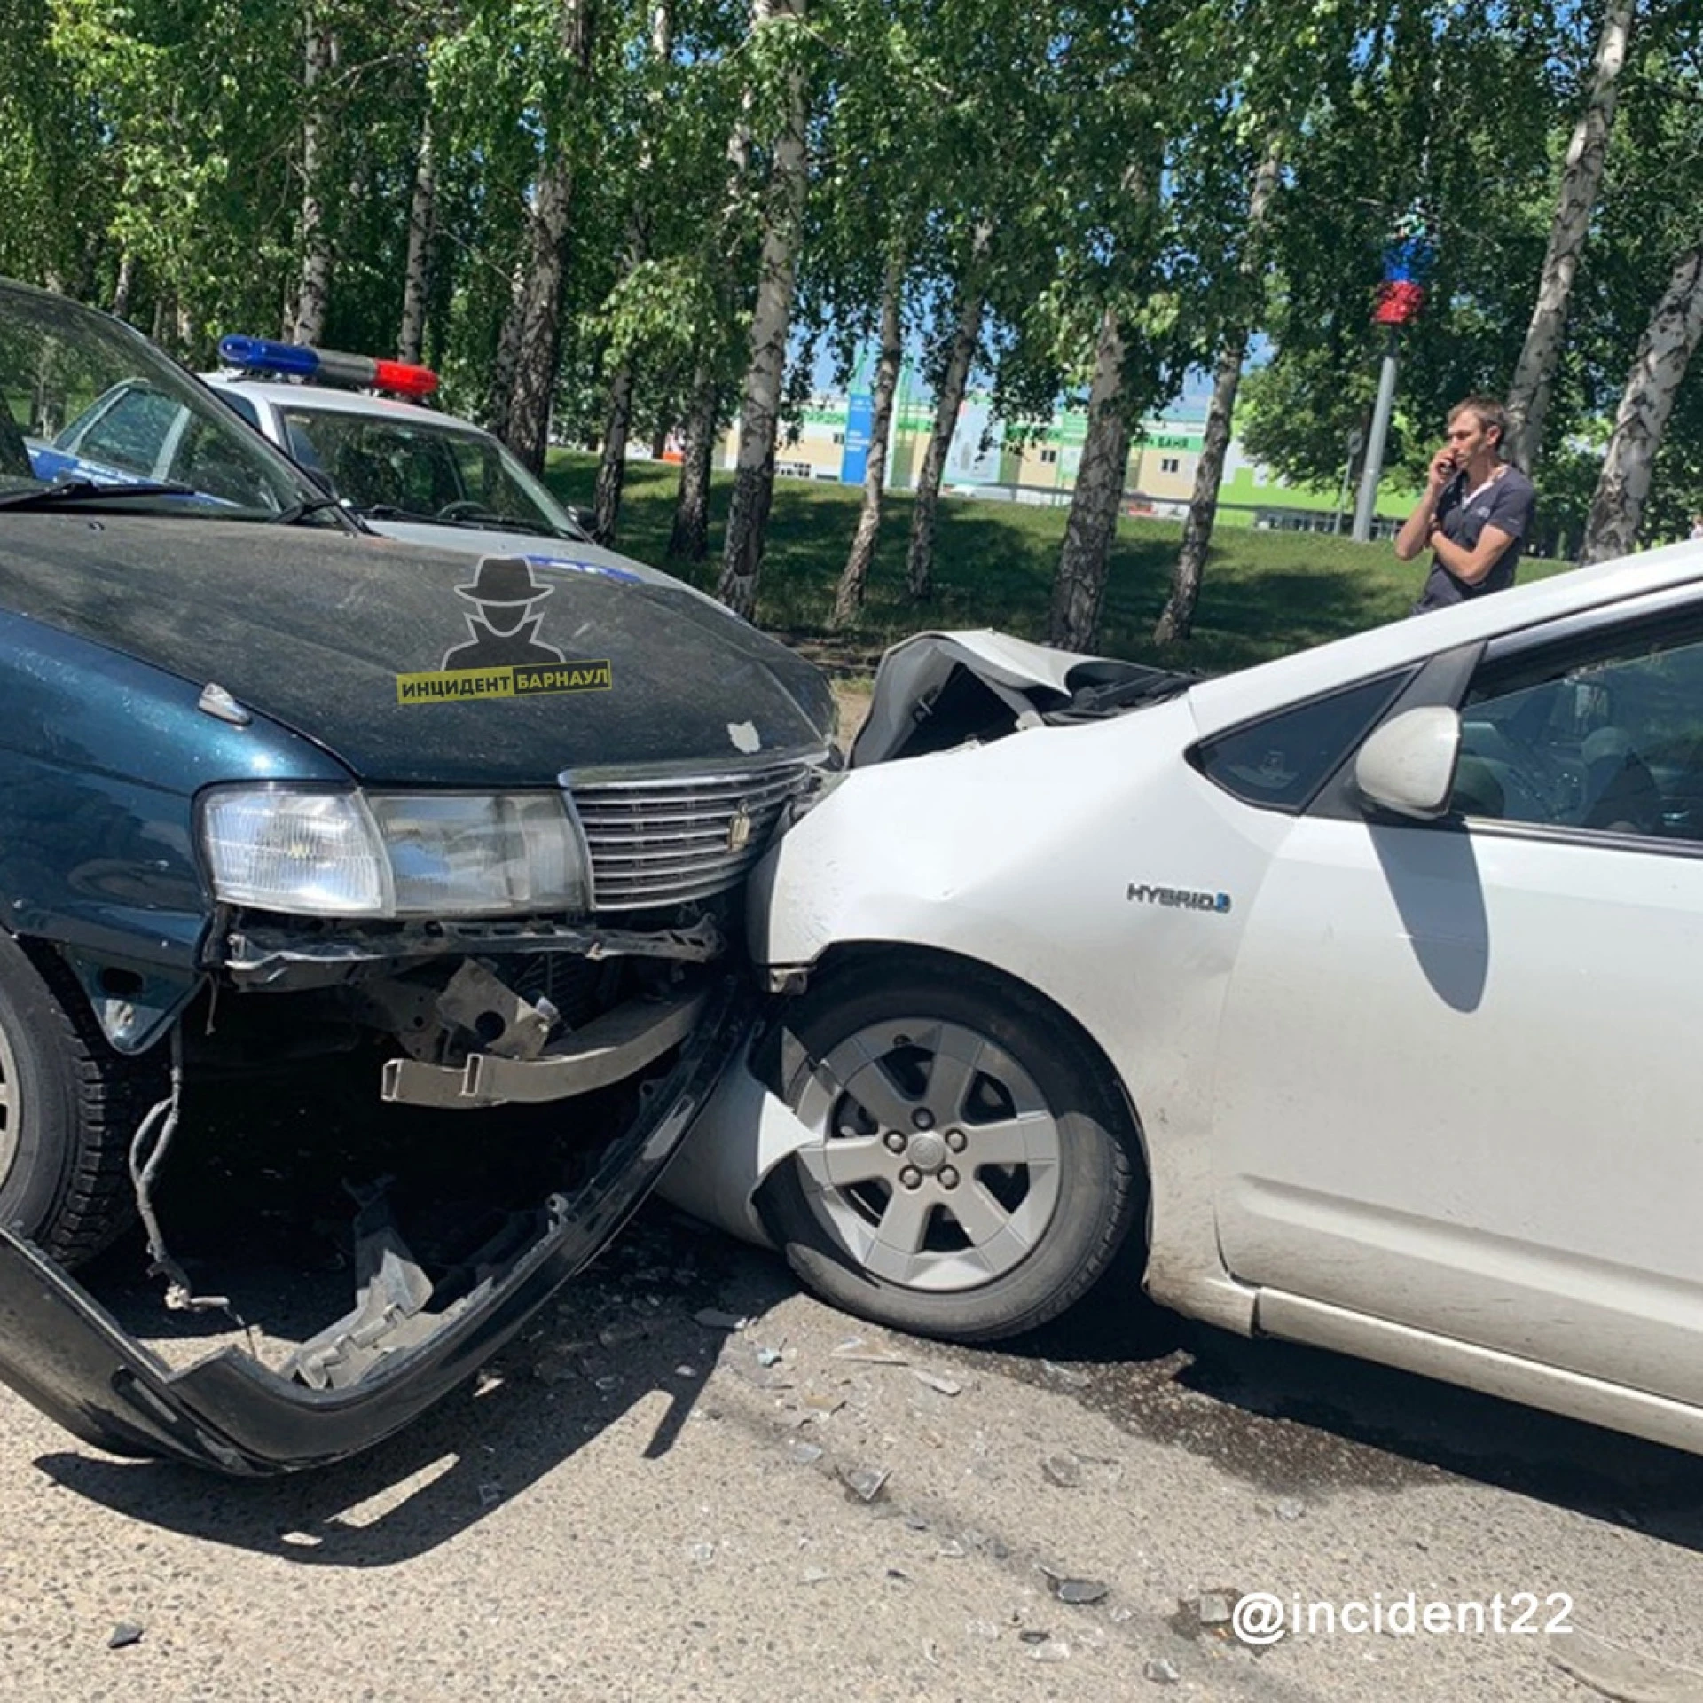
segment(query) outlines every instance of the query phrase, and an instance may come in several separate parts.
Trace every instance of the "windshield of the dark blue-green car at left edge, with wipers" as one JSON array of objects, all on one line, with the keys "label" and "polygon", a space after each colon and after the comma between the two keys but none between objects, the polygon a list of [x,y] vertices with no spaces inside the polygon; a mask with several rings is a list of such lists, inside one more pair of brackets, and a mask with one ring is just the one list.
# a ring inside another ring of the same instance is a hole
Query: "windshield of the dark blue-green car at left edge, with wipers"
[{"label": "windshield of the dark blue-green car at left edge, with wipers", "polygon": [[0,511],[61,501],[274,521],[324,492],[146,337],[0,284]]}]

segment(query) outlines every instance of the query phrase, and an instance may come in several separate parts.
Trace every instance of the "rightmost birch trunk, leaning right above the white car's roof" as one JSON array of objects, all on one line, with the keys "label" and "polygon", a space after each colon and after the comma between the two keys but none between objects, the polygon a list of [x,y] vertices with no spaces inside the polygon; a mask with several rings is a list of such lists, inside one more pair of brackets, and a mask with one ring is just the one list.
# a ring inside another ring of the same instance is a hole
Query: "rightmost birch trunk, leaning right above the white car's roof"
[{"label": "rightmost birch trunk, leaning right above the white car's roof", "polygon": [[1614,431],[1603,456],[1591,518],[1585,521],[1580,562],[1626,555],[1638,538],[1643,499],[1650,494],[1650,468],[1662,446],[1674,397],[1686,366],[1703,337],[1703,245],[1681,255],[1662,300],[1638,339],[1626,390],[1614,416]]}]

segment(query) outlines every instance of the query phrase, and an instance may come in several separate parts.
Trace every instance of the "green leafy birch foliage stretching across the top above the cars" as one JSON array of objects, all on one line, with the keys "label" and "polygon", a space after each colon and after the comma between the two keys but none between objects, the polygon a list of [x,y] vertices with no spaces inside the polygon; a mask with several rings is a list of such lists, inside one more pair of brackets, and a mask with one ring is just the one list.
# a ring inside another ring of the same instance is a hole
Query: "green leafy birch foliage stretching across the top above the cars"
[{"label": "green leafy birch foliage stretching across the top above the cars", "polygon": [[[1449,402],[1512,370],[1599,26],[1562,0],[811,0],[765,27],[751,0],[666,10],[659,51],[654,0],[0,0],[0,271],[100,305],[123,288],[196,363],[225,330],[272,332],[301,276],[313,119],[325,341],[388,351],[429,126],[426,351],[446,404],[487,405],[531,196],[565,163],[557,436],[599,433],[618,368],[651,433],[700,373],[739,376],[766,162],[802,72],[800,337],[850,375],[897,257],[925,376],[966,293],[984,298],[978,376],[1013,427],[1081,393],[1107,307],[1141,410],[1252,329],[1247,446],[1335,487],[1371,412],[1383,249],[1425,209],[1439,261],[1402,332],[1391,443],[1412,477]],[[312,90],[310,26],[335,49]],[[1274,141],[1281,189],[1250,250]],[[1650,0],[1540,463],[1562,530],[1700,204],[1703,12]],[[794,368],[794,400],[809,376]],[[1703,506],[1700,381],[1657,475],[1649,536]]]}]

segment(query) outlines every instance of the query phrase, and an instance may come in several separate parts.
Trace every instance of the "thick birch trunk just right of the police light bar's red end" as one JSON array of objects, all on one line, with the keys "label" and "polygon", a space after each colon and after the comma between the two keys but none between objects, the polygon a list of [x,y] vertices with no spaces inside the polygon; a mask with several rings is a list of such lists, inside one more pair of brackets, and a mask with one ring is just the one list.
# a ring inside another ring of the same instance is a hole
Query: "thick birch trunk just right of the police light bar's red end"
[{"label": "thick birch trunk just right of the police light bar's red end", "polygon": [[[562,0],[560,44],[584,90],[591,77],[591,0]],[[501,407],[501,436],[535,473],[543,472],[550,446],[550,405],[562,364],[562,279],[572,209],[574,162],[555,138],[528,209],[526,269],[511,308],[513,335],[507,325],[502,334],[514,351],[514,371]]]}]

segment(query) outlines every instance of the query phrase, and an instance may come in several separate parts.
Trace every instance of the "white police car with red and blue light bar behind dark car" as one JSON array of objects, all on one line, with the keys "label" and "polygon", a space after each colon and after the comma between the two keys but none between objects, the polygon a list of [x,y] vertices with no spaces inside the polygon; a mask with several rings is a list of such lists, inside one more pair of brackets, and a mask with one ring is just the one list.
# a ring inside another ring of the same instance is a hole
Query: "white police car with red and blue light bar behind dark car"
[{"label": "white police car with red and blue light bar behind dark car", "polygon": [[[221,339],[220,358],[225,364],[203,380],[371,531],[468,555],[518,555],[678,584],[594,545],[490,433],[426,407],[438,388],[431,368],[247,335]],[[43,477],[97,467],[107,475],[163,479],[187,429],[182,409],[157,392],[121,385],[51,446],[34,446],[32,456]]]}]

